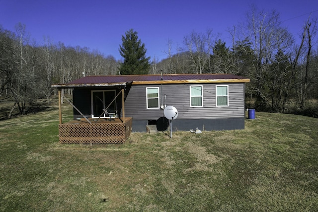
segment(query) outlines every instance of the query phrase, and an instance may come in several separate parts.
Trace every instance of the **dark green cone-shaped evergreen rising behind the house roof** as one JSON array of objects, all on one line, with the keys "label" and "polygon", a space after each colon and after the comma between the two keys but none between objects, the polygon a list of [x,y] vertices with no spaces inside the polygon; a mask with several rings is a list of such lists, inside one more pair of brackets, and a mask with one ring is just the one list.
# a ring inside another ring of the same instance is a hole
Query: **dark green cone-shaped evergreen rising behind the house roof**
[{"label": "dark green cone-shaped evergreen rising behind the house roof", "polygon": [[148,74],[150,69],[150,57],[146,58],[145,44],[138,39],[137,31],[130,29],[123,35],[119,53],[124,58],[120,64],[120,74]]}]

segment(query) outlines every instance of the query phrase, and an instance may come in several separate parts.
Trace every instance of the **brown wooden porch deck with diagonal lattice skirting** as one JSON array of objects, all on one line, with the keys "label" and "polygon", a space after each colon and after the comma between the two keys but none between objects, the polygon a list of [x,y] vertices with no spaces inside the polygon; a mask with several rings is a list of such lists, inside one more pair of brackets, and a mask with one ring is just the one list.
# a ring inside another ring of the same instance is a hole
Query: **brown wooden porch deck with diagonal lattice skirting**
[{"label": "brown wooden porch deck with diagonal lattice skirting", "polygon": [[60,143],[125,143],[131,134],[133,119],[125,118],[123,123],[118,118],[88,119],[81,118],[59,125]]}]

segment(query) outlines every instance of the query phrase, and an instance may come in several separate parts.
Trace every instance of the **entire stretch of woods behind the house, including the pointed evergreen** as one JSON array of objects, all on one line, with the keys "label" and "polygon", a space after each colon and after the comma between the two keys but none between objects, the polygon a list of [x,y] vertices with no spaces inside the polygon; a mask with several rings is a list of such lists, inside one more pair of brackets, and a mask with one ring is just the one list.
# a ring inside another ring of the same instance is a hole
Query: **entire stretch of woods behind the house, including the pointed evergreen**
[{"label": "entire stretch of woods behind the house, including the pointed evergreen", "polygon": [[318,99],[316,18],[305,20],[301,34],[295,36],[281,26],[277,12],[251,9],[244,23],[229,29],[229,34],[230,46],[212,29],[192,31],[175,49],[173,41],[167,40],[167,57],[159,61],[146,57],[145,44],[130,29],[119,46],[123,60],[116,61],[97,50],[54,44],[50,38],[36,45],[21,23],[16,32],[0,26],[0,95],[14,99],[23,114],[28,102],[50,101],[53,83],[67,83],[83,75],[159,74],[163,70],[248,77],[246,99],[262,111],[304,110]]}]

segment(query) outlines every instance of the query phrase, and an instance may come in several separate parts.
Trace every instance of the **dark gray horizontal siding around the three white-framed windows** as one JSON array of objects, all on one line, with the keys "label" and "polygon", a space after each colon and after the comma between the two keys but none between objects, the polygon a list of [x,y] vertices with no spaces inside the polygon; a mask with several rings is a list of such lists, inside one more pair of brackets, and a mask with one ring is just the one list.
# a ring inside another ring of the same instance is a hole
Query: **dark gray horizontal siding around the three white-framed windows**
[{"label": "dark gray horizontal siding around the three white-framed windows", "polygon": [[[203,107],[190,107],[190,85],[203,86]],[[216,107],[216,85],[229,85],[229,107]],[[178,110],[177,119],[227,119],[244,118],[244,84],[165,84],[162,94],[166,95],[166,106],[172,105]],[[147,109],[146,88],[159,87],[161,103],[161,85],[133,85],[125,101],[125,116],[133,120],[157,120],[163,116],[160,109]],[[163,100],[164,101],[164,100]]]}]

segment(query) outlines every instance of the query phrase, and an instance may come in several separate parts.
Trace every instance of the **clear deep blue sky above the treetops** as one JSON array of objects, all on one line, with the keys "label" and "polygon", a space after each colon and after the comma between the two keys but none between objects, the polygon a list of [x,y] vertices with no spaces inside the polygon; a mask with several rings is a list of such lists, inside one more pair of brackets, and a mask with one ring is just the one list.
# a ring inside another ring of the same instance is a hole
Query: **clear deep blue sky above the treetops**
[{"label": "clear deep blue sky above the treetops", "polygon": [[275,9],[295,36],[310,13],[318,17],[318,0],[0,0],[0,24],[12,32],[18,22],[25,24],[38,45],[46,36],[54,43],[88,47],[117,60],[121,36],[133,28],[147,56],[161,60],[167,57],[168,39],[181,46],[191,31],[212,29],[230,44],[228,28],[244,20],[251,4]]}]

